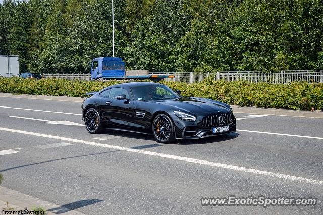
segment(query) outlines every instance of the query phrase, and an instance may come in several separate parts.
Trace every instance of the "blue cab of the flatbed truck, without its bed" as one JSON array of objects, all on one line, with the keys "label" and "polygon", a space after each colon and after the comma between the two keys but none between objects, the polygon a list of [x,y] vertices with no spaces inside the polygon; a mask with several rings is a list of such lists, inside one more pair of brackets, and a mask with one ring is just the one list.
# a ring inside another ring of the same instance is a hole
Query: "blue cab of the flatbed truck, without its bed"
[{"label": "blue cab of the flatbed truck, without its bed", "polygon": [[91,79],[97,80],[103,77],[118,79],[126,75],[125,62],[117,57],[94,58],[91,67]]}]

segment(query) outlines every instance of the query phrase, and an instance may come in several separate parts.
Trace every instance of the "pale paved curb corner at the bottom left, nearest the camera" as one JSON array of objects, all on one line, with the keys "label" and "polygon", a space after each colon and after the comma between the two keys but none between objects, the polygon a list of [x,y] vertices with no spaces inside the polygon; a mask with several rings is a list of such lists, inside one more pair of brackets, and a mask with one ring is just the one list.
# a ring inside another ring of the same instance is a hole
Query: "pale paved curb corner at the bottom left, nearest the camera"
[{"label": "pale paved curb corner at the bottom left, nearest the camera", "polygon": [[[8,202],[8,206],[7,206]],[[6,211],[24,211],[28,209],[31,211],[33,206],[41,206],[46,209],[46,214],[55,215],[84,215],[84,213],[76,210],[70,210],[57,204],[52,204],[48,201],[41,200],[15,190],[0,186],[0,208]],[[9,208],[8,208],[9,207]],[[13,213],[11,213],[13,214]]]}]

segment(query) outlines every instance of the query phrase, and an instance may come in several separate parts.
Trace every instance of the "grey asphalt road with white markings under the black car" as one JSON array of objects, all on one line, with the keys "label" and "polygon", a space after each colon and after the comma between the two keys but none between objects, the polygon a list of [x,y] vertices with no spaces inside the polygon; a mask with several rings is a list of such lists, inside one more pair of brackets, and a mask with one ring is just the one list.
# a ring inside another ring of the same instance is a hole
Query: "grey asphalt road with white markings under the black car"
[{"label": "grey asphalt road with white markings under the black car", "polygon": [[[160,144],[141,134],[89,134],[80,106],[0,97],[2,186],[86,214],[323,213],[323,119],[236,113],[236,133]],[[318,202],[201,205],[202,197],[230,195]]]}]

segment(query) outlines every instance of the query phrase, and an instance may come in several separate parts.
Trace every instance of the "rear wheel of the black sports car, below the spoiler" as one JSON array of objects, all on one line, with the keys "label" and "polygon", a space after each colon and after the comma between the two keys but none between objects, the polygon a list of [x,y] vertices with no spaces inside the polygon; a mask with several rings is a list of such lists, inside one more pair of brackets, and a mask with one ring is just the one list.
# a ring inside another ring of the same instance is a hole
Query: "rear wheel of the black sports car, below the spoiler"
[{"label": "rear wheel of the black sports car, below the spoiler", "polygon": [[94,108],[89,108],[84,115],[85,127],[91,134],[99,134],[103,131],[102,119]]}]

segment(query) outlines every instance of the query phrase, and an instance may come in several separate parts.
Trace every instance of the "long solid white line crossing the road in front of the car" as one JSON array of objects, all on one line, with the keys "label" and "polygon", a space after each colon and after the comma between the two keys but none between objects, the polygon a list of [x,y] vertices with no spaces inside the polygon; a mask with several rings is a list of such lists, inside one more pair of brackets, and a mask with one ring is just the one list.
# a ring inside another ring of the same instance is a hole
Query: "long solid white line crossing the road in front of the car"
[{"label": "long solid white line crossing the road in front of the car", "polygon": [[236,170],[236,171],[247,172],[247,173],[254,173],[254,174],[258,174],[258,175],[271,176],[271,177],[275,177],[275,178],[287,179],[287,180],[292,180],[292,181],[306,182],[309,184],[323,185],[323,181],[320,181],[320,180],[285,175],[285,174],[280,174],[280,173],[273,173],[273,172],[268,172],[268,171],[263,171],[263,170],[257,170],[257,169],[246,168],[246,167],[239,167],[239,166],[228,165],[228,164],[221,164],[221,163],[216,163],[216,162],[209,162],[207,160],[200,160],[200,159],[194,159],[194,158],[189,158],[189,157],[181,157],[181,156],[152,152],[152,151],[144,151],[141,149],[132,149],[132,148],[126,148],[126,147],[122,147],[122,146],[108,145],[108,144],[90,142],[90,141],[85,141],[85,140],[78,140],[78,139],[67,138],[67,137],[53,136],[53,135],[48,135],[48,134],[40,134],[40,133],[34,133],[34,132],[22,131],[22,130],[10,129],[10,128],[0,127],[0,130],[19,133],[19,134],[33,135],[33,136],[38,136],[38,137],[58,139],[58,140],[87,144],[87,145],[93,145],[93,146],[99,146],[99,147],[104,147],[104,148],[112,148],[115,150],[122,150],[122,151],[129,151],[129,152],[135,152],[135,153],[140,153],[140,154],[147,154],[147,155],[151,155],[151,156],[165,157],[165,158],[170,158],[170,159],[175,159],[175,160],[182,160],[184,162],[208,165],[208,166]]}]

